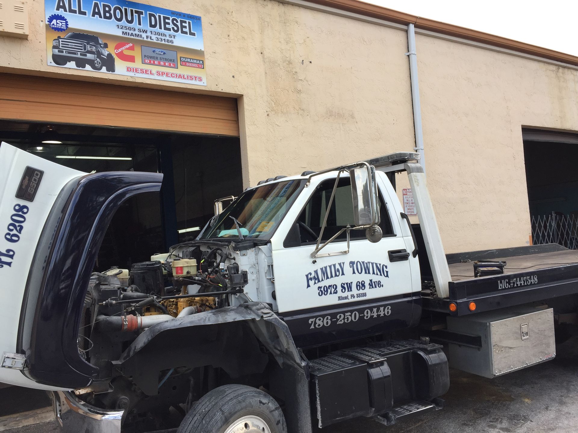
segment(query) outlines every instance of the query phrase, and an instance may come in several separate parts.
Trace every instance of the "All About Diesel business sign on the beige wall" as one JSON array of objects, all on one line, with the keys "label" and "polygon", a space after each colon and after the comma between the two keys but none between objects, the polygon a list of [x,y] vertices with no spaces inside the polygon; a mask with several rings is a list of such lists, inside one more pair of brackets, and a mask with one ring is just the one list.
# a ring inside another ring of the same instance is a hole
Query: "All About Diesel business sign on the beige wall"
[{"label": "All About Diesel business sign on the beige wall", "polygon": [[207,85],[201,17],[122,0],[45,0],[47,64]]}]

